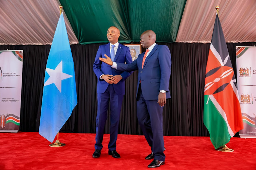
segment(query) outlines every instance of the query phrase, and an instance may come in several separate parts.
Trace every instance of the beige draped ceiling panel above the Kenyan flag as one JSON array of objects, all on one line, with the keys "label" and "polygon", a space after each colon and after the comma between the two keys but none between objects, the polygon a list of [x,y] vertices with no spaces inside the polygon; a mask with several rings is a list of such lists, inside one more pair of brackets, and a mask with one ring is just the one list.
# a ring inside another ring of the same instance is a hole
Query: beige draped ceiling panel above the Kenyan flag
[{"label": "beige draped ceiling panel above the Kenyan flag", "polygon": [[219,6],[227,43],[256,42],[256,0],[187,0],[178,43],[210,43]]}]

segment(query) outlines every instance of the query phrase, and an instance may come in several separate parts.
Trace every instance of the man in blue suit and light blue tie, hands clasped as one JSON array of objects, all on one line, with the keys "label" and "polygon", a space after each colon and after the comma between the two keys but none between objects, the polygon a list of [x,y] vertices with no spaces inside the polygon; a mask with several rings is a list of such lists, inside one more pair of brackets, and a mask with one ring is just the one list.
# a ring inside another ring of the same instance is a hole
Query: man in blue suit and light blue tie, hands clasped
[{"label": "man in blue suit and light blue tie, hands clasped", "polygon": [[120,31],[116,27],[110,27],[107,32],[109,44],[101,45],[97,51],[93,70],[98,78],[97,97],[98,97],[98,111],[96,117],[96,143],[94,158],[98,158],[101,154],[102,139],[107,119],[107,111],[110,102],[110,141],[109,141],[109,155],[114,158],[120,158],[116,152],[116,139],[118,134],[119,117],[121,106],[125,94],[125,79],[129,77],[131,72],[117,71],[111,68],[110,65],[102,63],[99,57],[107,54],[111,56],[112,61],[118,63],[131,63],[132,58],[129,47],[118,43]]}]

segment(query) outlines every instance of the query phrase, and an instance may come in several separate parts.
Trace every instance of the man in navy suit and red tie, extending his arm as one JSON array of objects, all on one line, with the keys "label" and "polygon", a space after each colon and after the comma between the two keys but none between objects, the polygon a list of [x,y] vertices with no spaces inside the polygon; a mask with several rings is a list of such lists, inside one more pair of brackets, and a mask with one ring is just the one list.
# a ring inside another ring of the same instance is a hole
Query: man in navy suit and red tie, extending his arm
[{"label": "man in navy suit and red tie, extending his arm", "polygon": [[166,99],[171,98],[171,54],[167,46],[155,43],[156,34],[152,30],[143,32],[140,39],[141,46],[147,50],[131,64],[112,62],[107,55],[99,59],[119,71],[138,70],[137,118],[152,150],[145,159],[154,158],[148,167],[155,168],[165,164],[162,111]]}]

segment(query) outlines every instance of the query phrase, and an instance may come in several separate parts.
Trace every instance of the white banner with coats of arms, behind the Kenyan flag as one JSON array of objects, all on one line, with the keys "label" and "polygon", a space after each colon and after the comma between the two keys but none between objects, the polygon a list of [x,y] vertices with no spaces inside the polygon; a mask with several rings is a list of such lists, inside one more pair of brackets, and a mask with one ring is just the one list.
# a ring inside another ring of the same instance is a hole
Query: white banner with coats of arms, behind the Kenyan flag
[{"label": "white banner with coats of arms, behind the Kenyan flag", "polygon": [[244,129],[240,137],[256,138],[256,47],[236,47],[237,85]]}]

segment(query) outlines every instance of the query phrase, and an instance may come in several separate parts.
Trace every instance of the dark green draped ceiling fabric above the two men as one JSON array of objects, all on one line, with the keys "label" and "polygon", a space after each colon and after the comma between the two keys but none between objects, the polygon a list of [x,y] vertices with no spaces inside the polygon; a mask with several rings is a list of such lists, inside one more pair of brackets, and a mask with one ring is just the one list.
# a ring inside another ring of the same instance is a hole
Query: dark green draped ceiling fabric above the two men
[{"label": "dark green draped ceiling fabric above the two men", "polygon": [[119,42],[140,41],[154,30],[158,42],[175,42],[186,0],[60,0],[80,44],[106,43],[110,26]]}]

